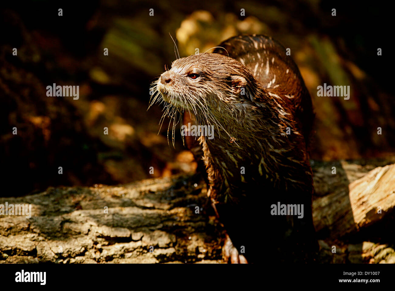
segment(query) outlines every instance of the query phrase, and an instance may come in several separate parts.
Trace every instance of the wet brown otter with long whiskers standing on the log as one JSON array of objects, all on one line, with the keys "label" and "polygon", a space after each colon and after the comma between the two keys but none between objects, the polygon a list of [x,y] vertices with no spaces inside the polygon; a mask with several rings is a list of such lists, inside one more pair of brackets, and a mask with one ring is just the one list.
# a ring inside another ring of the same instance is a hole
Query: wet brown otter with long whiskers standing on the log
[{"label": "wet brown otter with long whiskers standing on the log", "polygon": [[154,83],[151,104],[161,100],[164,115],[185,112],[184,122],[215,128],[214,139],[187,145],[204,163],[218,219],[249,263],[313,261],[314,113],[305,83],[270,37],[237,36],[218,47],[175,60]]}]

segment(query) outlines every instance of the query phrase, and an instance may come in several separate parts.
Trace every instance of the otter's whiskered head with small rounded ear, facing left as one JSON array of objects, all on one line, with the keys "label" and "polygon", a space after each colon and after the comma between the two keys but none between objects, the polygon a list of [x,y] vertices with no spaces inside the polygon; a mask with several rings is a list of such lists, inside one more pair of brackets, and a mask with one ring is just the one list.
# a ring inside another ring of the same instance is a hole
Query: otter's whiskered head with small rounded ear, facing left
[{"label": "otter's whiskered head with small rounded ear, facing left", "polygon": [[[251,100],[258,81],[240,62],[217,53],[200,53],[171,64],[156,82],[165,102],[181,110],[211,113]],[[215,115],[215,114],[214,114]]]}]

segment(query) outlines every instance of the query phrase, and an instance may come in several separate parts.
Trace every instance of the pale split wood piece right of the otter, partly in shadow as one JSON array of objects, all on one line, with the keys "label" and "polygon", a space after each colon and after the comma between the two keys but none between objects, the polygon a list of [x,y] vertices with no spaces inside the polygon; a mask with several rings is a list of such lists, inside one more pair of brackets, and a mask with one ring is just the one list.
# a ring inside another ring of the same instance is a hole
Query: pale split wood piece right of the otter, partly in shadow
[{"label": "pale split wood piece right of the otter, partly in shadow", "polygon": [[358,180],[313,202],[316,231],[327,228],[333,238],[367,227],[395,206],[395,164],[378,167]]}]

